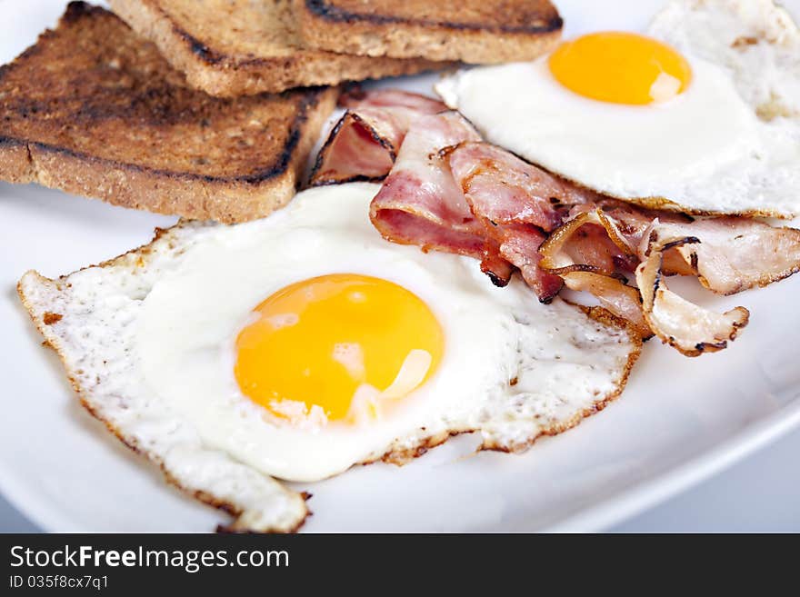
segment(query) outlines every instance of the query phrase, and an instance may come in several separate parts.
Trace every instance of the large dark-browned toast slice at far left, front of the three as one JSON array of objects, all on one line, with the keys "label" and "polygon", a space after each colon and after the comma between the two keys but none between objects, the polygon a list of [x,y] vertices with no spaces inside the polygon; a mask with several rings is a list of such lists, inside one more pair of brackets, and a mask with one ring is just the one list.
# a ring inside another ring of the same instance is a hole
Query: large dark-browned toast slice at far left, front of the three
[{"label": "large dark-browned toast slice at far left, front of the three", "polygon": [[71,3],[0,67],[0,179],[225,223],[295,194],[337,90],[218,99],[103,8]]}]

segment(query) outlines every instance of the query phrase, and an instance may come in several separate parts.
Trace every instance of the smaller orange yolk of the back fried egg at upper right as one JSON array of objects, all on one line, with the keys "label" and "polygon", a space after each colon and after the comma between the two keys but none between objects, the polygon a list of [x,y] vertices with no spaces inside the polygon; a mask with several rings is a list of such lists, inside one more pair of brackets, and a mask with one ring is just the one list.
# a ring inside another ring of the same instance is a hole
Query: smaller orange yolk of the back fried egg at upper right
[{"label": "smaller orange yolk of the back fried egg at upper right", "polygon": [[555,79],[576,94],[614,104],[665,102],[683,93],[692,68],[669,45],[623,32],[565,42],[549,59]]}]

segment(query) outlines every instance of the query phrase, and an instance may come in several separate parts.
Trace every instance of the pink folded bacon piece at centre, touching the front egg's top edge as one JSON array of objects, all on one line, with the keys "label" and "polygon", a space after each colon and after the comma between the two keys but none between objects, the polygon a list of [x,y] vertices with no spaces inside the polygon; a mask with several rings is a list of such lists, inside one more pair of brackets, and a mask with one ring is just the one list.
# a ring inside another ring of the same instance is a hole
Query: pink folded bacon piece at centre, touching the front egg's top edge
[{"label": "pink folded bacon piece at centre, touching the front egg's top edge", "polygon": [[441,150],[478,139],[456,112],[423,116],[405,135],[395,165],[370,205],[384,238],[481,259],[484,226],[466,204]]}]

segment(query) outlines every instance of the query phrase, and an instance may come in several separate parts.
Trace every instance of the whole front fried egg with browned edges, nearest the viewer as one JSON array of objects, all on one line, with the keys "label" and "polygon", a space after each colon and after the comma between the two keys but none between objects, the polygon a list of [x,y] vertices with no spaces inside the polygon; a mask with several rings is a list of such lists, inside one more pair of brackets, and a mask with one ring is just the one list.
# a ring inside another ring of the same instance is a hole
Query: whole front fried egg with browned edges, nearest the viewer
[{"label": "whole front fried egg with browned edges, nearest the viewer", "polygon": [[607,313],[385,242],[374,184],[305,191],[263,220],[183,223],[19,284],[90,411],[237,530],[292,530],[312,482],[454,433],[517,451],[619,393],[640,341]]}]

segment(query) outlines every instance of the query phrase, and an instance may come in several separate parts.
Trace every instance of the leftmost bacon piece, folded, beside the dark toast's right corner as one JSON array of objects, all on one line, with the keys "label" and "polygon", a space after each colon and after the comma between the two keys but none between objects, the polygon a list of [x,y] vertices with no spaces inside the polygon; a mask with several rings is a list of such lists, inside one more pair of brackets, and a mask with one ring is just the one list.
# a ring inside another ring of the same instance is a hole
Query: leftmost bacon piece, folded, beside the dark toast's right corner
[{"label": "leftmost bacon piece, folded, beside the dark toast's right corner", "polygon": [[405,91],[378,90],[343,95],[348,108],[316,156],[312,186],[352,181],[378,181],[395,163],[409,127],[445,104]]}]

